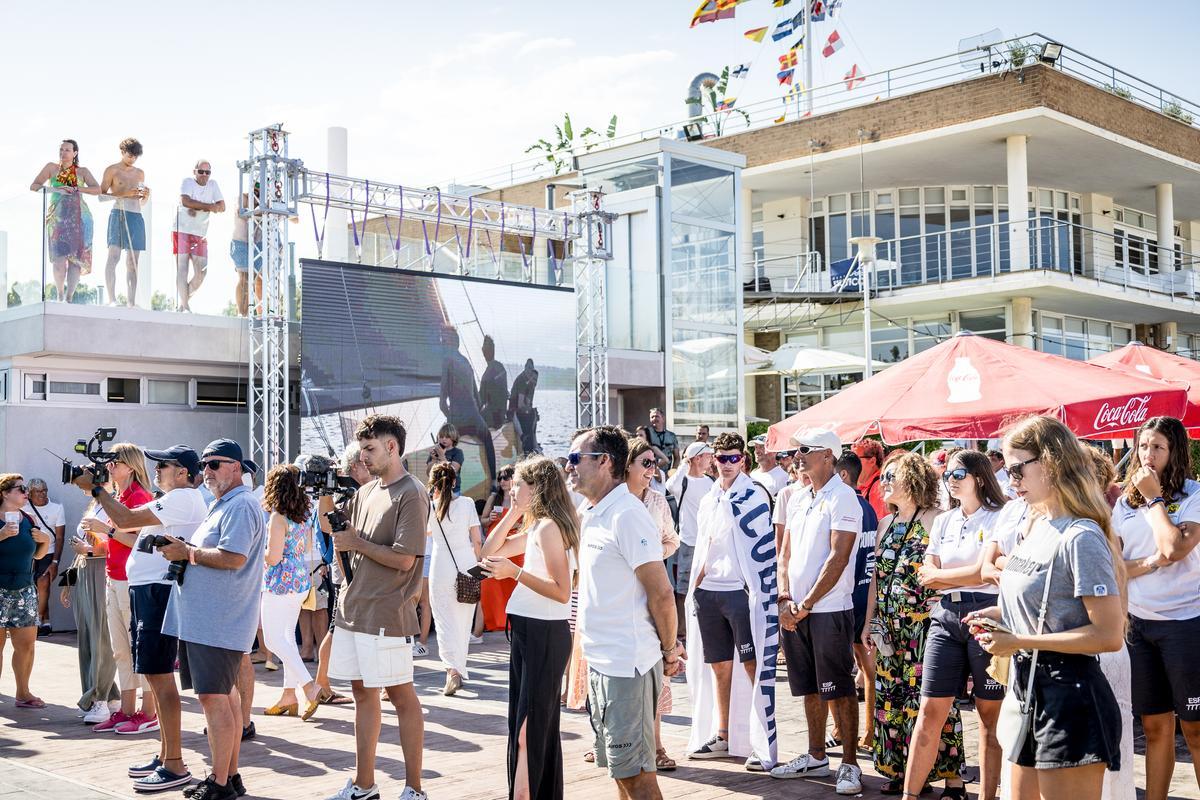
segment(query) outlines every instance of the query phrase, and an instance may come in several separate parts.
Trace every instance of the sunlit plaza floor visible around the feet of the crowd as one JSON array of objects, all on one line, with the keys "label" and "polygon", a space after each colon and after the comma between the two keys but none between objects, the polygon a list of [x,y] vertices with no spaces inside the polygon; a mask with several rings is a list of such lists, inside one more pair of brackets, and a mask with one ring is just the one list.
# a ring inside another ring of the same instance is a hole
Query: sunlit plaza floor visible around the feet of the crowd
[{"label": "sunlit plaza floor visible around the feet of the crowd", "polygon": [[[432,650],[432,639],[430,644]],[[503,634],[488,633],[482,645],[472,646],[470,680],[457,697],[442,696],[444,673],[436,657],[420,658],[416,666],[418,693],[425,710],[425,790],[432,800],[505,799],[508,644]],[[296,718],[266,717],[262,709],[278,697],[282,670],[269,673],[257,667],[256,676],[254,724],[258,736],[244,742],[241,750],[241,774],[250,796],[320,799],[337,792],[354,769],[353,706],[322,706],[307,723]],[[12,675],[5,664],[0,678],[0,781],[6,768],[24,766],[64,776],[73,786],[91,787],[106,796],[136,796],[125,769],[157,752],[155,734],[118,736],[92,733],[89,726],[83,724],[74,706],[78,687],[73,633],[38,639],[32,690],[48,703],[42,711],[13,706]],[[668,751],[679,762],[679,769],[660,776],[665,798],[835,796],[832,778],[781,782],[746,772],[733,762],[688,762],[683,757],[689,724],[686,684],[673,684],[673,693],[674,712],[665,720],[664,736]],[[797,700],[787,696],[786,687],[780,692],[778,708],[780,756],[786,758],[793,756],[805,741],[803,710]],[[967,752],[973,753],[976,718],[973,714],[964,716]],[[191,693],[185,693],[184,757],[198,777],[206,771],[208,742],[200,735],[203,728],[199,703]],[[616,796],[604,770],[583,760],[583,753],[592,746],[592,728],[587,717],[564,714],[562,735],[566,796]],[[404,765],[395,714],[386,710],[378,753],[377,780],[383,796],[396,798],[403,787]],[[1140,756],[1138,760],[1140,775]],[[864,772],[864,796],[878,796],[881,780],[865,763]],[[1144,786],[1141,778],[1138,783]],[[0,796],[4,800],[8,796],[2,784]],[[47,792],[46,796],[64,795],[61,792]],[[90,795],[80,789],[77,796]],[[163,796],[179,795],[166,793]],[[971,787],[971,796],[976,796],[974,787]],[[1178,765],[1171,796],[1200,798],[1190,764]]]}]

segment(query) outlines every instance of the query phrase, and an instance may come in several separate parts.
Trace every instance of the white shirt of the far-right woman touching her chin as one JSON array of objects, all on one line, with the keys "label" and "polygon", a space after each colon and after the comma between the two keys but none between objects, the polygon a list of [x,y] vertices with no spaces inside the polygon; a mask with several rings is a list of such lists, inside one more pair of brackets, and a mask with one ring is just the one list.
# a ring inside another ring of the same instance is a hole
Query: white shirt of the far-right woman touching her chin
[{"label": "white shirt of the far-right woman touching her chin", "polygon": [[[1151,509],[1132,509],[1122,497],[1112,510],[1112,527],[1121,537],[1126,560],[1144,559],[1158,551],[1150,527]],[[1157,512],[1156,512],[1157,513]],[[1171,523],[1200,523],[1200,483],[1186,481],[1183,491],[1166,504]],[[1154,572],[1129,581],[1129,613],[1141,619],[1182,620],[1200,616],[1200,548]]]}]

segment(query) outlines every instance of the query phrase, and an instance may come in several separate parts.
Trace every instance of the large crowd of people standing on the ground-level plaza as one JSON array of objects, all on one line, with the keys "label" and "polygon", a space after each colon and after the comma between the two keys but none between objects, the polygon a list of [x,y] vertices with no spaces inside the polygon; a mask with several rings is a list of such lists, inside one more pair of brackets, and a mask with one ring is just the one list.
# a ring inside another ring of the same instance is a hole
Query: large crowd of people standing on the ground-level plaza
[{"label": "large crowd of people standing on the ground-level plaza", "polygon": [[[76,479],[91,504],[70,542],[44,482],[0,475],[16,704],[44,706],[30,688],[47,622],[38,588],[58,576],[79,630],[85,721],[160,735],[158,754],[128,770],[136,790],[245,792],[257,640],[283,669],[265,714],[355,706],[355,771],[331,800],[379,796],[382,697],[398,720],[401,798],[424,800],[413,660],[432,621],[444,692],[457,692],[480,581],[494,578],[512,587],[514,798],[564,796],[564,705],[587,709],[586,759],[619,796],[661,796],[656,774],[677,768],[661,716],[682,680],[686,758],[832,776],[840,795],[863,792],[870,760],[886,795],[942,783],[941,796],[966,798],[972,760],[983,800],[1129,800],[1135,718],[1145,796],[1166,798],[1176,724],[1200,784],[1200,483],[1178,420],[1141,426],[1120,483],[1104,451],[1044,416],[986,452],[847,449],[821,429],[787,450],[733,432],[709,440],[707,428],[680,444],[658,409],[632,435],[582,429],[564,457],[502,468],[479,504],[458,493],[452,446],[427,485],[408,473],[403,425],[384,415],[361,422],[337,464],[358,489],[340,499],[305,489],[304,474],[334,469],[322,457],[271,469],[254,492],[257,467],[232,440],[202,453],[121,444],[103,485]],[[319,595],[328,633],[298,637]],[[806,740],[776,724],[781,668]],[[180,686],[208,726],[199,784],[181,760]],[[977,752],[964,740],[970,712]]]}]

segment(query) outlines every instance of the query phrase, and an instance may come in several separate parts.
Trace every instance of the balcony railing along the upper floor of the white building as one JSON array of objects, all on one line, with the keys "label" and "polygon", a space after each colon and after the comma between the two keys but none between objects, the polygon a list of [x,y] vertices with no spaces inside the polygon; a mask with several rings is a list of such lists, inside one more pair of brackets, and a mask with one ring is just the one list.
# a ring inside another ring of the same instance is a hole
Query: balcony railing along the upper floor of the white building
[{"label": "balcony railing along the upper floor of the white building", "polygon": [[[871,285],[877,291],[997,277],[1013,271],[1012,224],[995,223],[880,242]],[[1123,289],[1198,299],[1200,255],[1164,252],[1145,236],[1097,230],[1048,218],[1028,227],[1028,267],[1062,272]],[[818,253],[757,259],[746,265],[745,291],[824,294],[858,291],[845,282],[850,259],[826,264]]]}]

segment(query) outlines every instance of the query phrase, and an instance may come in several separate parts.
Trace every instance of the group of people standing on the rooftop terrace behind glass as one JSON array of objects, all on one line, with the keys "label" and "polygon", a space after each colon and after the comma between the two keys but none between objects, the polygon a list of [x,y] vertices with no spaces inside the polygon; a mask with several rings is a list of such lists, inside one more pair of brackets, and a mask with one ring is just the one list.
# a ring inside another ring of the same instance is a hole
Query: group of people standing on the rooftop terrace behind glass
[{"label": "group of people standing on the rooftop terrace behind glass", "polygon": [[[138,290],[138,267],[146,249],[144,206],[150,200],[145,173],[137,166],[142,143],[122,139],[118,145],[119,160],[104,168],[100,180],[79,163],[79,143],[64,139],[59,157],[48,162],[34,178],[30,190],[46,192],[46,247],[53,269],[55,295],[53,300],[73,302],[79,281],[91,272],[94,223],[91,209],[83,196],[91,194],[113,204],[108,215],[104,263],[104,288],[110,306],[124,303],[133,307]],[[256,199],[258,188],[254,190]],[[242,207],[248,197],[242,196]],[[179,205],[172,221],[172,253],[175,255],[176,311],[191,311],[191,299],[208,275],[209,218],[226,211],[224,196],[212,178],[208,160],[196,162],[192,174],[179,188]],[[245,317],[250,307],[250,224],[247,217],[234,218],[229,258],[238,273],[235,302]],[[125,284],[116,282],[116,266],[125,254]],[[122,291],[124,289],[124,291]],[[262,295],[262,285],[256,285]]]}]

